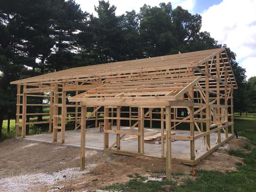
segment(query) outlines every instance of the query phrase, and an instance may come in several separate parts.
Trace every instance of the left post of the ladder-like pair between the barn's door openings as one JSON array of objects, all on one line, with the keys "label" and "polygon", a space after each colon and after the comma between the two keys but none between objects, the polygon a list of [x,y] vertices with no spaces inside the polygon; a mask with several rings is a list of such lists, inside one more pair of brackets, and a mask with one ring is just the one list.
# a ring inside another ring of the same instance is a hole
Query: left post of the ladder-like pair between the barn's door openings
[{"label": "left post of the ladder-like pair between the barn's door openings", "polygon": [[52,141],[57,142],[57,137],[58,137],[58,83],[54,83]]}]

